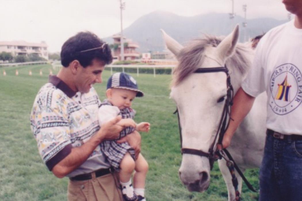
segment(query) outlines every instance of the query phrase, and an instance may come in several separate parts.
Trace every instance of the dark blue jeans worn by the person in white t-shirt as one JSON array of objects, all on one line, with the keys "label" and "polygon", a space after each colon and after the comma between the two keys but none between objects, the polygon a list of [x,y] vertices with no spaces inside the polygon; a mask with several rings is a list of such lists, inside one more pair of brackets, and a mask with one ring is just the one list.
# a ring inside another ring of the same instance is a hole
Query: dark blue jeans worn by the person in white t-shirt
[{"label": "dark blue jeans worn by the person in white t-shirt", "polygon": [[302,140],[268,135],[259,180],[260,201],[302,200]]}]

